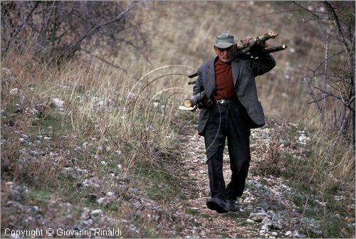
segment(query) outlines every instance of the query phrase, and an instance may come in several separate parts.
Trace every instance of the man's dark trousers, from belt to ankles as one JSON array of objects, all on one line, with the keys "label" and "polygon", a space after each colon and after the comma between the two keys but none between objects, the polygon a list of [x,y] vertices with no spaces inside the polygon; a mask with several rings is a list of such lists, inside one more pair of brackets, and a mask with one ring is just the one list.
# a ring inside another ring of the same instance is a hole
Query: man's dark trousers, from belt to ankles
[{"label": "man's dark trousers, from belt to ankles", "polygon": [[[214,104],[204,132],[209,183],[212,198],[236,200],[242,196],[250,166],[250,127],[246,109],[241,103]],[[225,186],[223,154],[227,137],[231,181]]]}]

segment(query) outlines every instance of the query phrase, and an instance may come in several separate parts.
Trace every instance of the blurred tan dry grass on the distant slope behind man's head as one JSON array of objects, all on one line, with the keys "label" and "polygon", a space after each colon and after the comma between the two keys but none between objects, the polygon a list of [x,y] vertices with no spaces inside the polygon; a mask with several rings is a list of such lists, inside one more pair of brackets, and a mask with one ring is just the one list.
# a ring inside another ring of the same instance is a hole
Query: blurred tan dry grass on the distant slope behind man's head
[{"label": "blurred tan dry grass on the distant slope behind man's head", "polygon": [[[271,46],[286,44],[288,48],[274,54],[277,65],[271,73],[257,78],[258,94],[266,115],[288,117],[311,127],[320,127],[315,108],[308,105],[311,101],[308,88],[298,82],[308,72],[306,66],[317,65],[323,60],[323,42],[315,36],[314,26],[303,23],[300,16],[293,12],[262,16],[279,11],[289,4],[268,1],[156,3],[154,12],[165,17],[142,26],[147,33],[152,34],[152,67],[146,68],[146,72],[162,65],[177,63],[198,68],[204,60],[214,56],[214,39],[222,32],[233,33],[239,42],[244,36],[259,36],[266,31],[276,31],[280,36],[268,43]],[[248,16],[235,14],[235,9],[248,13]],[[145,14],[142,17],[157,17]],[[230,21],[216,21],[216,16],[230,15],[234,16]],[[155,29],[154,33],[152,29]],[[313,48],[313,51],[308,51],[309,48]],[[179,82],[179,85],[184,86],[186,83]]]}]

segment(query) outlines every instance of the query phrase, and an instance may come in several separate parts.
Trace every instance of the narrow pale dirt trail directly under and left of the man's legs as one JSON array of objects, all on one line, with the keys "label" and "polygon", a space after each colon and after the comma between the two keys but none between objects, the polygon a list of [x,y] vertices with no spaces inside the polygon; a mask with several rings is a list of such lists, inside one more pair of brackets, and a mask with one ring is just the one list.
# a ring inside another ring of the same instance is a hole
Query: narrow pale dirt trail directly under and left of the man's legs
[{"label": "narrow pale dirt trail directly under and left of the man's legs", "polygon": [[[184,169],[188,171],[192,188],[197,192],[190,193],[189,199],[184,202],[187,211],[196,216],[197,222],[201,224],[192,236],[214,238],[214,237],[234,237],[251,238],[258,235],[256,225],[244,223],[248,213],[241,208],[238,213],[219,214],[206,207],[206,198],[209,198],[209,177],[207,165],[205,163],[204,137],[195,134],[185,136],[191,142],[191,148],[185,152]],[[231,171],[229,161],[224,156],[224,178],[229,182]],[[187,191],[189,193],[189,191]],[[241,223],[243,222],[243,223]],[[245,224],[245,225],[244,225]]]}]

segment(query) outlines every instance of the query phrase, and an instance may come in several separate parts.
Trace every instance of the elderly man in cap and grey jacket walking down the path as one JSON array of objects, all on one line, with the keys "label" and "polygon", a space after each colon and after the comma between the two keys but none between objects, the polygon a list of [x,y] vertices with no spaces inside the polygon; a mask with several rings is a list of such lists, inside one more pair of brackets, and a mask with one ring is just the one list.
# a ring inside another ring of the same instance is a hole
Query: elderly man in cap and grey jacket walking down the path
[{"label": "elderly man in cap and grey jacket walking down the path", "polygon": [[[251,37],[245,38],[243,44],[249,40]],[[207,99],[199,105],[198,132],[204,136],[211,191],[206,206],[218,213],[238,210],[236,198],[244,191],[251,160],[250,129],[265,124],[255,76],[276,65],[271,54],[254,59],[248,54],[235,55],[236,48],[231,34],[217,36],[216,57],[200,66],[193,88],[194,95],[204,90]],[[226,137],[232,172],[227,186],[223,176]]]}]

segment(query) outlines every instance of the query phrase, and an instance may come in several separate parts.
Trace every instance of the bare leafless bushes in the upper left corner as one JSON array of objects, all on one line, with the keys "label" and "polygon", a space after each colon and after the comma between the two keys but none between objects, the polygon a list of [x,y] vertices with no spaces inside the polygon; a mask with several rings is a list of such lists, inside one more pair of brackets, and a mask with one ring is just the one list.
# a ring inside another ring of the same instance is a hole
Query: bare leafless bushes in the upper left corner
[{"label": "bare leafless bushes in the upper left corner", "polygon": [[[147,41],[135,18],[144,1],[2,1],[1,53],[34,44],[37,57],[63,63],[79,53],[104,60],[122,48],[143,53]],[[105,55],[105,57],[103,56]]]}]

